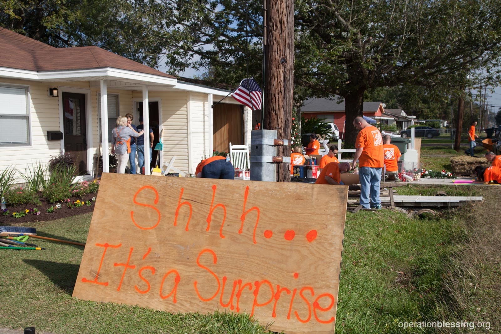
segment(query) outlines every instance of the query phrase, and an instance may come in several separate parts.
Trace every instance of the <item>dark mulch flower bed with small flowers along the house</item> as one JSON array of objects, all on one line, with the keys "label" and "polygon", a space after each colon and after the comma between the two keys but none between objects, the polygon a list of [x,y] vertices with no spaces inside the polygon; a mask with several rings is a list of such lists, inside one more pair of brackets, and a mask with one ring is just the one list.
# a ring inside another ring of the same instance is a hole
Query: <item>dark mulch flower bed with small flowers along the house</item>
[{"label": "dark mulch flower bed with small flowers along the house", "polygon": [[[96,202],[91,201],[92,205],[87,206],[87,201],[90,201],[92,197],[97,197],[97,193],[86,194],[83,198],[80,197],[71,197],[70,202],[76,202],[77,200],[84,201],[85,205],[80,207],[73,207],[72,209],[68,208],[66,203],[61,203],[61,208],[54,210],[54,212],[48,213],[47,209],[51,206],[56,207],[56,203],[48,203],[47,200],[43,197],[40,197],[40,201],[42,205],[33,205],[33,204],[22,204],[17,206],[7,206],[7,209],[10,211],[9,216],[0,215],[0,225],[19,225],[25,222],[38,222],[38,221],[48,221],[66,218],[70,216],[74,216],[77,214],[83,214],[87,212],[92,212],[94,210],[94,205]],[[25,211],[26,209],[32,210],[33,208],[37,208],[40,210],[39,215],[34,215],[33,213],[28,213],[24,217],[14,218],[12,216],[13,212]]]}]

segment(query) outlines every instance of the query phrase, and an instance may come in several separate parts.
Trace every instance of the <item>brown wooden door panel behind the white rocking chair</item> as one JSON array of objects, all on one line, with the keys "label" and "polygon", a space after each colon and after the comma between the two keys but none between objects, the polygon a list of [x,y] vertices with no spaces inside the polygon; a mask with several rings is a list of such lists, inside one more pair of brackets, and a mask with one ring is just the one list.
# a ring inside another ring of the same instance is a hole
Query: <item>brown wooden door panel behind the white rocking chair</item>
[{"label": "brown wooden door panel behind the white rocking chair", "polygon": [[218,152],[228,152],[231,145],[243,145],[243,107],[219,103],[213,109],[213,145]]}]

